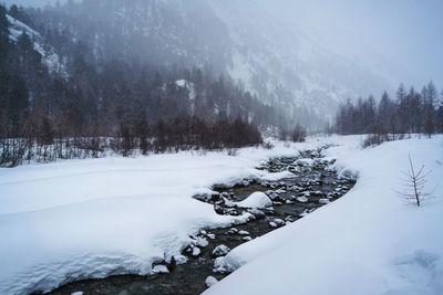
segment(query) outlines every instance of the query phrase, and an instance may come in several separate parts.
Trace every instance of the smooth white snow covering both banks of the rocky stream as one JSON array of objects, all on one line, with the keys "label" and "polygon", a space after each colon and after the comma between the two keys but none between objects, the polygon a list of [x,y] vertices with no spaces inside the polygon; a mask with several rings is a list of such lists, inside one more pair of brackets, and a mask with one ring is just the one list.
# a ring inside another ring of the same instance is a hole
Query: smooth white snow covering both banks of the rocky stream
[{"label": "smooth white snow covering both banks of the rocky stream", "polygon": [[[237,270],[208,294],[443,294],[443,183],[422,208],[405,204],[408,152],[443,179],[443,138],[362,150],[362,138],[276,143],[272,150],[68,160],[0,169],[0,294],[50,291],[61,283],[152,272],[152,263],[192,243],[200,228],[243,222],[194,200],[219,182],[279,179],[256,170],[272,156],[324,143],[337,169],[359,181],[342,199],[217,261]],[[243,266],[243,267],[240,267]],[[240,267],[240,268],[239,268]]]}]

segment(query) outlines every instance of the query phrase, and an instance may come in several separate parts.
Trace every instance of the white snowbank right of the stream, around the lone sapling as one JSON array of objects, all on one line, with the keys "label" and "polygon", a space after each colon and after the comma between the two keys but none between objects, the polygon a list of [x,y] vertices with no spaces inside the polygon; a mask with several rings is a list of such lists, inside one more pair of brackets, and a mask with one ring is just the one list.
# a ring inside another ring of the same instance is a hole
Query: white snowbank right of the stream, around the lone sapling
[{"label": "white snowbank right of the stream, around the lone sapling", "polygon": [[[443,294],[443,137],[327,151],[359,176],[343,198],[234,249],[216,267],[236,271],[205,294]],[[404,203],[408,154],[433,172],[423,207]],[[266,271],[272,270],[272,271]]]}]

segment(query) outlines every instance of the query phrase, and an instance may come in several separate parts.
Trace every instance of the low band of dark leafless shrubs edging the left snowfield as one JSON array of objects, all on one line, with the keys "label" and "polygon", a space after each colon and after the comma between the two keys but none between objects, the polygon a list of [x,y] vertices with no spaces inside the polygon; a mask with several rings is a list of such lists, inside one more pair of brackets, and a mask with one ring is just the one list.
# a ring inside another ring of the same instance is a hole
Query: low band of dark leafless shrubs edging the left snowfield
[{"label": "low band of dark leafless shrubs edging the left snowfield", "polygon": [[55,137],[51,126],[43,125],[45,133],[41,137],[0,139],[0,166],[99,158],[110,154],[130,157],[179,150],[235,150],[262,143],[257,126],[241,118],[219,118],[215,122],[205,122],[196,116],[159,119],[154,125],[122,126],[120,134],[113,137]]}]

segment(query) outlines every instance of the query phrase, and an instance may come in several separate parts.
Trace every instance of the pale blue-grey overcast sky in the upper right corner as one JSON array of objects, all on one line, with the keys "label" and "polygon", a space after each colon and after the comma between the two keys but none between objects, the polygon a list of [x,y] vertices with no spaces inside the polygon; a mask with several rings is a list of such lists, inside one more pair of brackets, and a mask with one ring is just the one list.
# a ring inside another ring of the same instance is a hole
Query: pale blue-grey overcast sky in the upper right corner
[{"label": "pale blue-grey overcast sky in the upper right corner", "polygon": [[387,71],[410,76],[406,83],[443,87],[443,0],[261,1],[337,51],[369,62],[380,55],[379,63],[398,66]]}]

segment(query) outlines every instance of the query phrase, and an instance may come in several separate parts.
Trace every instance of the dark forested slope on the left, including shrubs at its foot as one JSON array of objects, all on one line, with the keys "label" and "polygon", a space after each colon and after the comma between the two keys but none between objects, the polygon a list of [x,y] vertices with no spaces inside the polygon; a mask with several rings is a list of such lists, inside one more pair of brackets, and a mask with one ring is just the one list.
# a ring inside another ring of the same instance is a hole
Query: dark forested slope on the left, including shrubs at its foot
[{"label": "dark forested slope on the left, including shrubs at its foot", "polygon": [[[51,10],[49,10],[51,11]],[[55,10],[56,11],[56,10]],[[226,75],[95,52],[56,18],[0,6],[0,165],[261,143],[286,118]],[[12,18],[11,18],[12,17]],[[20,22],[18,22],[19,20]],[[31,29],[32,28],[32,29]]]}]

